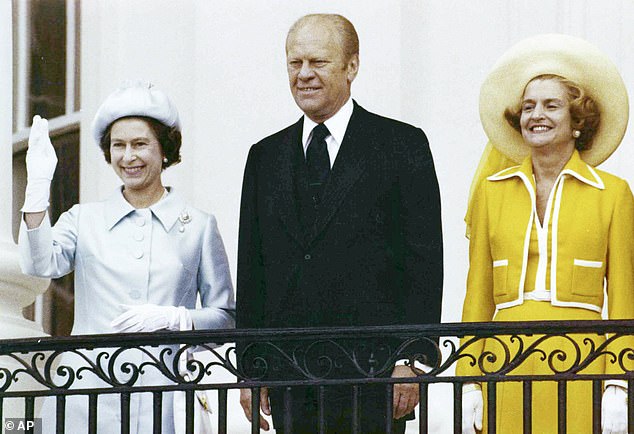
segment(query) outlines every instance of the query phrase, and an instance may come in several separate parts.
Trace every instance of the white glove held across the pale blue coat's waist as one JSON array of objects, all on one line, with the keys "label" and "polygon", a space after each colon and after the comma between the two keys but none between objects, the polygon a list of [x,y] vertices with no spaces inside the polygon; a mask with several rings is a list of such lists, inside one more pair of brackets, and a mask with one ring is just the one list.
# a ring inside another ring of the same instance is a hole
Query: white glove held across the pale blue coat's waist
[{"label": "white glove held across the pale blue coat's waist", "polygon": [[122,305],[127,309],[110,326],[118,333],[154,332],[157,330],[191,330],[192,319],[183,306],[142,304]]}]

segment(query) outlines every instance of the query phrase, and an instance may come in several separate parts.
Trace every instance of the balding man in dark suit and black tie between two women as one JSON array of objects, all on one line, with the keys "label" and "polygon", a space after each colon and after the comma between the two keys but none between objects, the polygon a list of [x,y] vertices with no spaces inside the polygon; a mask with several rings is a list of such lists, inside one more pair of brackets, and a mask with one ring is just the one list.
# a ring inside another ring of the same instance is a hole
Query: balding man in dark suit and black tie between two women
[{"label": "balding man in dark suit and black tie between two women", "polygon": [[[286,40],[291,92],[304,116],[255,144],[240,213],[237,324],[240,328],[371,326],[440,321],[440,196],[422,130],[352,101],[359,42],[339,15],[308,15]],[[254,347],[251,347],[253,350]],[[238,347],[238,358],[244,356]],[[411,377],[409,366],[386,375]],[[345,371],[345,369],[344,369]],[[291,373],[277,377],[288,378]],[[342,374],[345,375],[345,374]],[[327,388],[328,389],[328,388]],[[341,390],[344,392],[341,392]],[[350,431],[349,388],[333,388],[327,432]],[[384,432],[385,387],[360,399],[361,431]],[[317,430],[315,390],[266,389],[261,409],[278,432]],[[394,430],[418,403],[418,386],[393,388]],[[241,390],[251,418],[251,391]],[[286,410],[284,408],[286,406]],[[268,429],[263,418],[261,424]],[[285,430],[286,428],[286,430]]]}]

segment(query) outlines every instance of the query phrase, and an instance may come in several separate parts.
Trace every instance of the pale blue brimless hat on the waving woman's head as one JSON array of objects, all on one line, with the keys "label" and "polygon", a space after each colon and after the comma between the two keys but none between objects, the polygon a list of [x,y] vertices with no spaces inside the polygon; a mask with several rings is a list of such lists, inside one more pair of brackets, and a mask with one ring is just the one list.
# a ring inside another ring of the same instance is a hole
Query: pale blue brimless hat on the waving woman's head
[{"label": "pale blue brimless hat on the waving woman's head", "polygon": [[92,122],[97,145],[111,123],[128,116],[146,116],[180,130],[178,110],[163,91],[147,81],[128,80],[108,95],[97,110]]}]

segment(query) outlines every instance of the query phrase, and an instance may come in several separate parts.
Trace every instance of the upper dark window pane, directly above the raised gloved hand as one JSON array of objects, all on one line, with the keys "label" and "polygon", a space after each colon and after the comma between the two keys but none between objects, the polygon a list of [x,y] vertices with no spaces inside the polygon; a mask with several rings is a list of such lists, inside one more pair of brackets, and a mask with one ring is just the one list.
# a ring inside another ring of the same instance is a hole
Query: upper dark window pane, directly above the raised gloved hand
[{"label": "upper dark window pane, directly above the raised gloved hand", "polygon": [[29,118],[53,118],[66,109],[66,2],[32,0]]}]

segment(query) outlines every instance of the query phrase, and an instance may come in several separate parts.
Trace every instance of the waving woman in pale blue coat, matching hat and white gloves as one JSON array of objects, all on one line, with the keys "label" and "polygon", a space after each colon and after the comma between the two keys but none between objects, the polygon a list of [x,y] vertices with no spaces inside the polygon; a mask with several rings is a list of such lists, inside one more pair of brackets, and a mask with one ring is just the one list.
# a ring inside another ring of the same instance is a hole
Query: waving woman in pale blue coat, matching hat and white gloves
[{"label": "waving woman in pale blue coat, matching hat and white gloves", "polygon": [[[126,83],[99,108],[93,135],[123,185],[105,201],[73,206],[51,227],[46,210],[57,158],[47,121],[34,118],[19,236],[23,271],[47,278],[75,271],[72,334],[234,327],[233,288],[216,219],[189,206],[161,181],[162,171],[180,161],[174,105],[151,84]],[[163,349],[147,350],[156,356]],[[142,351],[131,350],[118,365],[147,360]],[[60,361],[75,370],[85,364],[73,355]],[[73,387],[105,385],[90,373],[83,376]],[[120,372],[117,378],[126,375]],[[165,382],[156,369],[147,368],[136,384]],[[162,433],[175,431],[172,395],[163,394]],[[67,429],[87,429],[87,403],[86,397],[67,398]],[[118,432],[120,408],[118,395],[99,397],[99,433]],[[54,415],[55,400],[46,399],[45,429],[54,430]],[[132,394],[130,432],[152,432],[152,417],[152,395]]]}]

